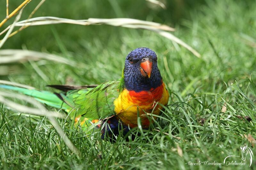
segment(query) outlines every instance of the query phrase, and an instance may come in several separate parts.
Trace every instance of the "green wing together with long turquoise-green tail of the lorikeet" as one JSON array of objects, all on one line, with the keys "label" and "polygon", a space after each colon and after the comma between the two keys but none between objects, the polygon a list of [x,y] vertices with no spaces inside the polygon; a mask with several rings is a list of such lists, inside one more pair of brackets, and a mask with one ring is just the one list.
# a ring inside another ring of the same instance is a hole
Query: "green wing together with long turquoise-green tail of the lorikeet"
[{"label": "green wing together with long turquoise-green tail of the lorikeet", "polygon": [[39,102],[45,103],[54,108],[63,109],[70,112],[73,118],[81,115],[90,120],[106,119],[115,115],[114,100],[124,89],[124,79],[109,81],[95,88],[75,89],[67,93],[60,93],[60,97],[48,91],[40,91],[36,89],[25,89],[20,87],[0,85],[0,88],[18,91],[22,94],[32,96]]}]

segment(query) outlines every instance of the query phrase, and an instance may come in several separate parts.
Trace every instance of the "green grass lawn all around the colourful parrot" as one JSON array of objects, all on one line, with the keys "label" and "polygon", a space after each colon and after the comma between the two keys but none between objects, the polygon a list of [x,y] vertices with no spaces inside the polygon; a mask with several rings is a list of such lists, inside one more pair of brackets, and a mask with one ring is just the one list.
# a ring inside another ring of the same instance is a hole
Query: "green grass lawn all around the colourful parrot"
[{"label": "green grass lawn all around the colourful parrot", "polygon": [[[99,84],[119,79],[126,55],[144,46],[158,55],[158,66],[171,94],[167,109],[149,131],[134,129],[134,134],[143,131],[143,135],[134,141],[119,136],[116,143],[101,140],[97,132],[86,136],[72,127],[69,118],[58,119],[81,152],[77,157],[46,117],[20,115],[3,105],[0,110],[0,166],[4,169],[249,169],[248,157],[245,166],[189,166],[186,163],[199,160],[223,163],[229,155],[241,156],[240,146],[244,145],[256,155],[255,147],[244,137],[251,134],[256,138],[256,3],[206,0],[188,8],[189,3],[185,1],[182,7],[188,11],[179,19],[179,15],[175,15],[176,19],[172,20],[168,19],[172,17],[168,14],[174,13],[168,9],[174,2],[167,5],[167,11],[150,11],[145,5],[147,2],[141,1],[141,12],[134,13],[128,7],[138,10],[140,7],[128,1],[113,2],[83,1],[80,6],[70,6],[69,12],[63,6],[54,11],[58,4],[54,3],[51,8],[46,1],[38,15],[46,15],[45,10],[49,12],[47,16],[73,19],[104,18],[104,13],[106,18],[153,19],[176,25],[174,35],[194,47],[202,57],[197,58],[150,31],[106,25],[46,25],[23,30],[8,39],[4,48],[49,51],[84,63],[86,67],[37,61],[36,65],[49,78],[44,81],[29,62],[15,63],[6,66],[17,67],[19,71],[0,78],[47,90],[50,90],[45,87],[47,84]],[[96,5],[98,10],[93,10]],[[114,11],[108,13],[104,5]],[[80,11],[86,14],[79,15]],[[223,113],[225,101],[227,111]],[[249,116],[252,121],[237,116]],[[182,154],[178,153],[180,149]],[[239,162],[241,158],[230,160]],[[251,168],[256,169],[256,157]]]}]

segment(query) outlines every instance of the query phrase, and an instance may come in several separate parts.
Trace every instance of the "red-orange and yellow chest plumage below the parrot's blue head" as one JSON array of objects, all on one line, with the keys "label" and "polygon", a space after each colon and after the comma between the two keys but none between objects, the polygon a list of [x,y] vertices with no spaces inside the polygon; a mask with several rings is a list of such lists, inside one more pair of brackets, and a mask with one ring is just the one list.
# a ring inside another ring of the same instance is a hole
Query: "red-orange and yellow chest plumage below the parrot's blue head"
[{"label": "red-orange and yellow chest plumage below the parrot's blue head", "polygon": [[169,100],[169,93],[165,89],[164,83],[149,91],[128,91],[124,89],[118,98],[114,101],[116,116],[123,121],[124,124],[130,127],[137,126],[137,116],[141,118],[141,123],[143,127],[149,126],[149,120],[145,116],[145,111],[153,114],[159,115],[162,106],[157,104],[155,109],[155,104],[161,103],[166,105]]}]

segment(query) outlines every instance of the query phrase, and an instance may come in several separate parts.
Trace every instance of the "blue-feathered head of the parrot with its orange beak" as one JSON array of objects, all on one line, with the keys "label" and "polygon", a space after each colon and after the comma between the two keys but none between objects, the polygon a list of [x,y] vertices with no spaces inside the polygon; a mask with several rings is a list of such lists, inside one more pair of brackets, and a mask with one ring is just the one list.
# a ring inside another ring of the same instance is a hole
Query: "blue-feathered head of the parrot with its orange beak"
[{"label": "blue-feathered head of the parrot with its orange beak", "polygon": [[162,77],[154,51],[141,47],[127,55],[124,64],[124,86],[127,90],[148,91],[161,84]]}]

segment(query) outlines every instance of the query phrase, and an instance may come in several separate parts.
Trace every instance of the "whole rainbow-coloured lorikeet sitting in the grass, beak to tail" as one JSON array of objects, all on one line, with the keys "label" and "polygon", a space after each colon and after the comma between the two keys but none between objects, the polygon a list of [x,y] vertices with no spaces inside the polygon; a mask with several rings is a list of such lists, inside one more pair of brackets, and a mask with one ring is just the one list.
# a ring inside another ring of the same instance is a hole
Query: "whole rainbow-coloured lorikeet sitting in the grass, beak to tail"
[{"label": "whole rainbow-coloured lorikeet sitting in the grass, beak to tail", "polygon": [[157,56],[149,48],[137,48],[130,52],[124,64],[122,78],[108,81],[98,86],[59,86],[61,93],[25,89],[8,85],[0,88],[15,90],[28,96],[33,96],[39,102],[54,108],[63,109],[75,123],[83,129],[106,122],[108,126],[102,128],[104,134],[118,134],[120,123],[123,133],[138,125],[138,116],[142,128],[148,128],[150,121],[145,112],[159,115],[162,105],[167,105],[169,93],[165,88],[161,74],[157,67]]}]

